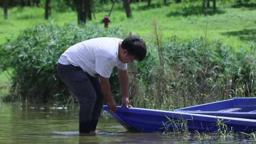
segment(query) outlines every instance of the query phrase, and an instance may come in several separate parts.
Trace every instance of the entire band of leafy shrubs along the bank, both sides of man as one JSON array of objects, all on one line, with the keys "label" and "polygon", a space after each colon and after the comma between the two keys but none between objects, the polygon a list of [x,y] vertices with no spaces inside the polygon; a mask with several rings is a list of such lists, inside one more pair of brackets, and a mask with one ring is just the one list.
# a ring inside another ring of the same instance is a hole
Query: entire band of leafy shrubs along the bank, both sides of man
[{"label": "entire band of leafy shrubs along the bank, both sides of man", "polygon": [[[36,25],[0,47],[2,69],[12,68],[12,95],[6,100],[41,104],[75,101],[60,81],[56,64],[71,45],[94,37],[122,37],[119,28],[65,24]],[[159,43],[158,43],[159,44]],[[134,107],[173,109],[232,97],[256,95],[255,43],[234,50],[220,40],[192,39],[165,45],[147,43],[147,56],[128,65]],[[121,102],[117,70],[112,95]]]}]

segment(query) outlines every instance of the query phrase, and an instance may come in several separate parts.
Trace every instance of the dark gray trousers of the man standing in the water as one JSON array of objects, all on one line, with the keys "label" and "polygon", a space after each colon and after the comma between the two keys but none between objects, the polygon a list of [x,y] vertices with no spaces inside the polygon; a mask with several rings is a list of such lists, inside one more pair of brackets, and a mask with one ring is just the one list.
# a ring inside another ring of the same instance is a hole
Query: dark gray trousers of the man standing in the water
[{"label": "dark gray trousers of the man standing in the water", "polygon": [[58,63],[57,71],[60,79],[79,100],[79,133],[95,131],[105,101],[99,77],[92,77],[71,64]]}]

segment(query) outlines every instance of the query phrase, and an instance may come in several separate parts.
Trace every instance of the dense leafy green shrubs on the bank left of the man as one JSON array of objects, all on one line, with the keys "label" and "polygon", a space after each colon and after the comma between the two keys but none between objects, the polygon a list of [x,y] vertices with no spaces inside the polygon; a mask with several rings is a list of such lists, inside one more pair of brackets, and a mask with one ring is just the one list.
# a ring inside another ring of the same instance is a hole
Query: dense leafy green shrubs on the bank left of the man
[{"label": "dense leafy green shrubs on the bank left of the man", "polygon": [[1,47],[2,68],[12,68],[9,101],[34,104],[68,104],[74,96],[58,77],[60,55],[70,46],[95,37],[122,37],[119,28],[68,23],[40,24],[26,29]]}]

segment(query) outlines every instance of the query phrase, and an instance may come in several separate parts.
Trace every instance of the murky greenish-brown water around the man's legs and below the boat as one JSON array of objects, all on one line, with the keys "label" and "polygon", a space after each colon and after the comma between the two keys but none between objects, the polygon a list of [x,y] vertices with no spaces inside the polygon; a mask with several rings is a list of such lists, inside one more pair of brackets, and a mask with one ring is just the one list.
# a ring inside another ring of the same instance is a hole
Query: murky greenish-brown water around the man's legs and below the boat
[{"label": "murky greenish-brown water around the man's legs and below the boat", "polygon": [[101,117],[98,134],[79,135],[77,107],[22,109],[0,104],[0,144],[252,144],[249,137],[210,140],[166,137],[159,133],[127,132],[111,116]]}]

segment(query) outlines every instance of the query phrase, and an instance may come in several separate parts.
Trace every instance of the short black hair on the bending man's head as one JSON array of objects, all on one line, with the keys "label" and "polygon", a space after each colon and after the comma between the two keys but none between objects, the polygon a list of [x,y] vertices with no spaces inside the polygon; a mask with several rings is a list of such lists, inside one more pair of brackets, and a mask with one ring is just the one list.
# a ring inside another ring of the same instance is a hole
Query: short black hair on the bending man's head
[{"label": "short black hair on the bending man's head", "polygon": [[122,42],[121,47],[126,49],[129,55],[134,56],[137,61],[142,61],[147,54],[146,43],[139,37],[127,37]]}]

